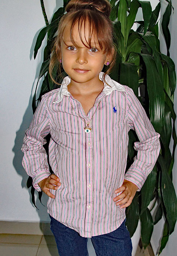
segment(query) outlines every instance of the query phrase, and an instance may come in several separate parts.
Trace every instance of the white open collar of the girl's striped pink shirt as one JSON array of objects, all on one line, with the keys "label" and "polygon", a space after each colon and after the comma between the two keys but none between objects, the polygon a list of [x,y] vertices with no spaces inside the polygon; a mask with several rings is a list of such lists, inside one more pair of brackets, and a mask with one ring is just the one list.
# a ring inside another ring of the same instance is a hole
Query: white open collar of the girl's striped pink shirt
[{"label": "white open collar of the girl's striped pink shirt", "polygon": [[[102,92],[105,95],[111,94],[113,90],[126,91],[125,87],[122,84],[112,80],[109,75],[106,74],[104,79],[104,72],[100,72],[99,79],[104,83],[104,88]],[[71,94],[68,91],[68,84],[70,84],[70,82],[71,82],[70,76],[66,76],[61,84],[60,90],[58,91],[58,99],[53,103],[60,102],[64,97],[64,95],[71,96]]]}]

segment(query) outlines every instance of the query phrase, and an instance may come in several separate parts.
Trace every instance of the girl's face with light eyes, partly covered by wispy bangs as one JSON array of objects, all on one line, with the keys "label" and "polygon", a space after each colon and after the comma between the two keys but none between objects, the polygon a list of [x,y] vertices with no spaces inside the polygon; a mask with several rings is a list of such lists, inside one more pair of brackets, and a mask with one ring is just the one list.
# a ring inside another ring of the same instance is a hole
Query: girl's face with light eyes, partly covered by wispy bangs
[{"label": "girl's face with light eyes, partly covered by wispy bangs", "polygon": [[[81,38],[85,45],[88,45],[88,24],[85,23],[85,36],[84,36],[84,25],[81,28]],[[85,40],[86,37],[86,40]],[[96,38],[92,37],[92,48],[86,48],[80,39],[78,33],[78,25],[76,24],[73,28],[74,42],[79,46],[77,48],[73,45],[70,39],[70,26],[67,26],[64,30],[64,40],[61,42],[61,59],[62,66],[71,78],[71,84],[93,84],[99,80],[99,73],[103,69],[103,66],[107,60],[110,61],[103,54],[99,48]],[[94,40],[95,39],[95,40]]]}]

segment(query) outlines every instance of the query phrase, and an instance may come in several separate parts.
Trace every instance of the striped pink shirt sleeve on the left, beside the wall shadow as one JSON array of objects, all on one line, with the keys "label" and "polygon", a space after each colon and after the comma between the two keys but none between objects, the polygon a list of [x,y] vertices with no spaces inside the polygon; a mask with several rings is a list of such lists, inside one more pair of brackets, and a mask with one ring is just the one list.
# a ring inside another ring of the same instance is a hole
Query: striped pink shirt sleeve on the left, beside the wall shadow
[{"label": "striped pink shirt sleeve on the left, beside the wall shadow", "polygon": [[45,106],[45,97],[41,99],[36,109],[30,127],[25,132],[21,150],[24,152],[22,165],[27,174],[32,177],[33,186],[41,191],[38,182],[50,175],[47,154],[43,147],[44,137],[50,132],[49,116]]}]

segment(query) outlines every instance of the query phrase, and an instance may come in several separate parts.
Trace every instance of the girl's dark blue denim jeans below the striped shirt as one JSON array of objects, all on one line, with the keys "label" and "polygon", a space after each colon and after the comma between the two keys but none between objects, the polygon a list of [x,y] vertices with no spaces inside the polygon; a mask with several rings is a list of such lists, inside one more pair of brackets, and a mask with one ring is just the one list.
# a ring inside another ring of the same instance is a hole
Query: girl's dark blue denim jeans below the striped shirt
[{"label": "girl's dark blue denim jeans below the striped shirt", "polygon": [[[57,243],[59,256],[88,256],[88,238],[81,237],[77,231],[51,216],[50,219],[50,228]],[[96,256],[131,256],[132,242],[125,222],[126,219],[111,233],[91,237]]]}]

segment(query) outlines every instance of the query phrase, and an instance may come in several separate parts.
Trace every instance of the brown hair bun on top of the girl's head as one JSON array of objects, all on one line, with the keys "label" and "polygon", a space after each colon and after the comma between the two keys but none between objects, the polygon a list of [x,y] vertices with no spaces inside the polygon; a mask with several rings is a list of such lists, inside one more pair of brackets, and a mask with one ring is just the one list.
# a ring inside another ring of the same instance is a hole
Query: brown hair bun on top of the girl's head
[{"label": "brown hair bun on top of the girl's head", "polygon": [[107,0],[71,0],[65,8],[66,12],[76,12],[84,9],[99,11],[107,18],[109,18],[111,12],[111,6]]}]

